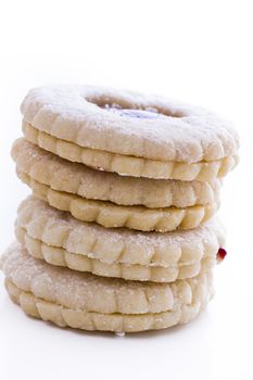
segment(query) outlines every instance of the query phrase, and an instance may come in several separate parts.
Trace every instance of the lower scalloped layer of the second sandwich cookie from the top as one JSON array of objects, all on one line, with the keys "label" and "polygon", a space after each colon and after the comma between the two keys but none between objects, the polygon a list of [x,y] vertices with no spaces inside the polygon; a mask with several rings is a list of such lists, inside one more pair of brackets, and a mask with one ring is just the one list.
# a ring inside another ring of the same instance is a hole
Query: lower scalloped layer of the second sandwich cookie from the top
[{"label": "lower scalloped layer of the second sandwich cookie from the top", "polygon": [[96,221],[106,228],[127,227],[140,231],[167,232],[191,229],[208,220],[218,208],[218,200],[206,205],[190,207],[148,208],[144,206],[119,206],[112,202],[87,200],[68,192],[53,190],[17,169],[20,179],[33,193],[51,206],[69,212],[85,221]]}]

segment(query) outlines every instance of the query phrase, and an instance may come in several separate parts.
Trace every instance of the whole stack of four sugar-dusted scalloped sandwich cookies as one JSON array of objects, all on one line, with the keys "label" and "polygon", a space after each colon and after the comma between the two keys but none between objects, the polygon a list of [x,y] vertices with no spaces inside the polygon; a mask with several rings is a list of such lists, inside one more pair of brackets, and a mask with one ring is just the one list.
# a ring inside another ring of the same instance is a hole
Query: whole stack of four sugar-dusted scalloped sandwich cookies
[{"label": "whole stack of four sugar-dusted scalloped sandwich cookies", "polygon": [[199,107],[93,87],[29,91],[17,176],[33,195],[2,256],[30,316],[134,332],[193,319],[226,251],[214,217],[238,136]]}]

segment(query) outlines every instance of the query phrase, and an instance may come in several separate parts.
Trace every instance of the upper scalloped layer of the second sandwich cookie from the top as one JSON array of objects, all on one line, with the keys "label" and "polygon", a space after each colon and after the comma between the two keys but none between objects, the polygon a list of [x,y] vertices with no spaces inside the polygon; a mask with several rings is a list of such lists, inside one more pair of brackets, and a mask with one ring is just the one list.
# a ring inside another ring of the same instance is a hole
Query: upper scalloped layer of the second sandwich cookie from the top
[{"label": "upper scalloped layer of the second sandwich cookie from the top", "polygon": [[62,160],[25,139],[14,142],[12,156],[18,170],[54,190],[118,205],[143,205],[150,208],[204,205],[213,203],[220,189],[220,180],[212,183],[157,180],[102,173]]}]

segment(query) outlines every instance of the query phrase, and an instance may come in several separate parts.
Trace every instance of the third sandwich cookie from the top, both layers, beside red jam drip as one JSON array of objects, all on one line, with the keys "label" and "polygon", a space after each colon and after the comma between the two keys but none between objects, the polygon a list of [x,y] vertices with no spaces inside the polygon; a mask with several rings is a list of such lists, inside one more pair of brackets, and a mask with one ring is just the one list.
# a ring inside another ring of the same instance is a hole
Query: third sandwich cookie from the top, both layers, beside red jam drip
[{"label": "third sandwich cookie from the top, both layers, beside red jam drip", "polygon": [[140,281],[169,282],[204,273],[225,243],[217,221],[165,235],[104,229],[76,220],[35,198],[21,204],[15,227],[17,240],[37,258]]}]

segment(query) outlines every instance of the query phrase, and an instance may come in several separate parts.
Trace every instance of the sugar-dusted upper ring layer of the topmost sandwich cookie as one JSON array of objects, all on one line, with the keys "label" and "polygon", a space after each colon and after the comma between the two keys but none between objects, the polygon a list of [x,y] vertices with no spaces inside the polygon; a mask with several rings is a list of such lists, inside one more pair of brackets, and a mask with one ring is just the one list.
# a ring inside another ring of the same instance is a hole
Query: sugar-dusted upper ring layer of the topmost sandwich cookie
[{"label": "sugar-dusted upper ring layer of the topmost sandwich cookie", "polygon": [[[99,105],[155,109],[168,117],[122,117]],[[34,127],[81,147],[152,160],[199,162],[236,153],[238,136],[212,113],[155,96],[94,87],[37,88],[23,104]],[[180,117],[178,117],[180,116]],[[68,131],[62,126],[68,124]],[[69,134],[69,130],[72,132]]]}]

